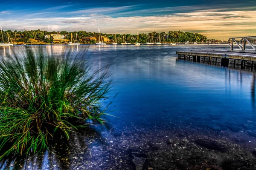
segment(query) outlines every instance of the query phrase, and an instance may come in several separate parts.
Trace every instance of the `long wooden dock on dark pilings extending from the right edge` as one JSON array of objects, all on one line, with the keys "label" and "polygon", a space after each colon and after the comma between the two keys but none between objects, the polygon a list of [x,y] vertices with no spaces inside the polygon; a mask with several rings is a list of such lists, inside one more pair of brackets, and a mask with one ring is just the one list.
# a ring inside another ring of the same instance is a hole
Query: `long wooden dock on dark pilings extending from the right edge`
[{"label": "long wooden dock on dark pilings extending from the right edge", "polygon": [[178,60],[256,71],[256,53],[225,51],[177,51]]}]

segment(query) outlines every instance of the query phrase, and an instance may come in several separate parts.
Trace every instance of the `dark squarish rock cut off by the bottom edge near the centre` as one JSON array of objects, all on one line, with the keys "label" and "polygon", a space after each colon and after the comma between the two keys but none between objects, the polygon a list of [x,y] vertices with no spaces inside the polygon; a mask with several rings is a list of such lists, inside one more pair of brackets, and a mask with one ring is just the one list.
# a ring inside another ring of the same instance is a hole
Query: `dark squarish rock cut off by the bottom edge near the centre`
[{"label": "dark squarish rock cut off by the bottom edge near the centre", "polygon": [[139,149],[129,149],[128,154],[131,157],[131,164],[134,170],[147,170],[147,155]]}]

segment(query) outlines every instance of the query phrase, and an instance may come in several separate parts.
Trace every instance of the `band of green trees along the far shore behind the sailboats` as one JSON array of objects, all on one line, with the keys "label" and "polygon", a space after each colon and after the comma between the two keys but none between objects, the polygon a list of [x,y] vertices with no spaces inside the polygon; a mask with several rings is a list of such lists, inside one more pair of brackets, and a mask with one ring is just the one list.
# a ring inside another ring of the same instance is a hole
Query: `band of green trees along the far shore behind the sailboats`
[{"label": "band of green trees along the far shore behind the sailboats", "polygon": [[[47,31],[41,31],[40,29],[38,30],[30,30],[30,31],[17,31],[15,30],[14,32],[11,30],[4,31],[5,33],[8,32],[10,37],[12,39],[38,39],[38,40],[44,40],[44,41],[50,41],[49,39],[46,40],[44,38],[44,35],[51,35],[51,34],[60,34],[60,35],[65,35],[66,39],[70,40],[71,36],[70,33],[73,34],[73,36],[78,35],[78,39],[82,39],[82,37],[89,37],[89,36],[94,36],[97,37],[98,33],[96,32],[86,32],[86,31],[78,31],[78,32],[67,32],[67,31],[52,31],[52,32],[47,32]],[[101,33],[102,36],[108,37],[111,41],[114,40],[114,34],[108,34],[108,33]],[[148,40],[149,39],[149,40]],[[159,40],[160,39],[160,40]],[[135,43],[137,42],[137,35],[131,35],[131,34],[116,34],[116,43],[124,43],[128,42],[130,40],[130,43]],[[192,33],[192,32],[182,32],[182,31],[169,31],[169,32],[151,32],[148,34],[142,33],[139,34],[139,42],[140,43],[146,43],[148,41],[153,41],[153,42],[172,42],[172,43],[184,43],[184,42],[207,42],[207,37],[198,33]]]}]

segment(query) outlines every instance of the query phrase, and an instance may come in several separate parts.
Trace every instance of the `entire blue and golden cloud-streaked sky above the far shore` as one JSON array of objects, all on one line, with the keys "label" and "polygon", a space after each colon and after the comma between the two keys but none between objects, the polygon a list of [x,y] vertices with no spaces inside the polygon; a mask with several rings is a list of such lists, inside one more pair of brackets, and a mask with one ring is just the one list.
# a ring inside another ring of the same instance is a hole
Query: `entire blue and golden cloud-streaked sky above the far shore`
[{"label": "entire blue and golden cloud-streaked sky above the far shore", "polygon": [[0,26],[116,34],[180,30],[227,39],[256,35],[256,0],[1,1]]}]

